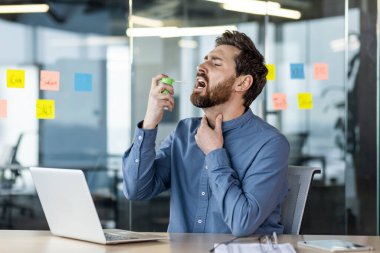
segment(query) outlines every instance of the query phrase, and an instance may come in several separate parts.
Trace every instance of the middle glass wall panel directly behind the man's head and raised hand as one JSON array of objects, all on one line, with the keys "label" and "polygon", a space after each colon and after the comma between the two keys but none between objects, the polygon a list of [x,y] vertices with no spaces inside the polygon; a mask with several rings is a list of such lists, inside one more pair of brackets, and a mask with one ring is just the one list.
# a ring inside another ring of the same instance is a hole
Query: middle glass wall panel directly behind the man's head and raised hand
[{"label": "middle glass wall panel directly behind the man's head and raised hand", "polygon": [[[247,33],[264,52],[264,16],[248,16],[239,12],[229,12],[220,8],[219,4],[198,1],[165,1],[158,5],[141,5],[134,1],[133,17],[159,20],[164,26],[192,28],[188,34],[178,31],[165,37],[164,30],[160,36],[132,36],[133,38],[133,120],[132,126],[143,120],[147,105],[152,77],[164,73],[182,83],[175,83],[175,108],[173,112],[165,112],[158,127],[156,145],[174,130],[177,122],[186,117],[201,116],[202,111],[192,106],[190,95],[196,76],[196,68],[204,56],[214,47],[215,37],[225,29],[232,27]],[[133,20],[133,19],[132,19]],[[134,28],[146,28],[138,20]],[[196,28],[211,27],[203,31]],[[220,26],[225,26],[220,28]],[[191,35],[191,36],[186,36]],[[146,37],[144,37],[146,36]],[[262,98],[255,101],[254,111],[262,111]],[[132,204],[132,229],[165,231],[169,215],[169,192],[165,192],[148,202]]]}]

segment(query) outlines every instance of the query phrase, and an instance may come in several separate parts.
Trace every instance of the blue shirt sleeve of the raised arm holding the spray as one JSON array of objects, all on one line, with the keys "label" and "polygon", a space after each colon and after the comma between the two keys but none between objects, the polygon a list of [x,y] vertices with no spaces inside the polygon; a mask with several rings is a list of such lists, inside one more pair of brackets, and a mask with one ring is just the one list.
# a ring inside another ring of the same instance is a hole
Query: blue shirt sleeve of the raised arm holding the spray
[{"label": "blue shirt sleeve of the raised arm holding the spray", "polygon": [[123,191],[130,200],[150,199],[170,187],[172,135],[156,152],[157,128],[135,130],[132,146],[123,156]]}]

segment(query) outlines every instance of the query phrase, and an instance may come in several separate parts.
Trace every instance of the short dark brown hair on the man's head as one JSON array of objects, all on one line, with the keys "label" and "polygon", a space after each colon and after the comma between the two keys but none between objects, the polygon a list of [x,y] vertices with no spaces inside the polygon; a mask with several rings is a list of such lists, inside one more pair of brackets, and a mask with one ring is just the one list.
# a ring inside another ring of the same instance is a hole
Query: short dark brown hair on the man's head
[{"label": "short dark brown hair on the man's head", "polygon": [[215,46],[230,45],[240,49],[235,57],[236,76],[252,75],[252,86],[244,93],[244,105],[249,107],[263,90],[267,82],[268,69],[264,64],[264,57],[256,49],[255,44],[245,34],[238,31],[225,31],[216,38]]}]

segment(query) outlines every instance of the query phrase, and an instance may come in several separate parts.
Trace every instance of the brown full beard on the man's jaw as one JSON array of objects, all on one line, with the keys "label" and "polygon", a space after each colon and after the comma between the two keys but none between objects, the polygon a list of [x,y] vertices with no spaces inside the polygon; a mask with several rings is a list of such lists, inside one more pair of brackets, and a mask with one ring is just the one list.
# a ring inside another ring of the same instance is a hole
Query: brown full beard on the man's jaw
[{"label": "brown full beard on the man's jaw", "polygon": [[201,92],[193,92],[190,96],[191,103],[199,108],[208,108],[227,102],[231,97],[235,79],[236,78],[232,76],[212,88],[207,85],[205,95],[202,95]]}]

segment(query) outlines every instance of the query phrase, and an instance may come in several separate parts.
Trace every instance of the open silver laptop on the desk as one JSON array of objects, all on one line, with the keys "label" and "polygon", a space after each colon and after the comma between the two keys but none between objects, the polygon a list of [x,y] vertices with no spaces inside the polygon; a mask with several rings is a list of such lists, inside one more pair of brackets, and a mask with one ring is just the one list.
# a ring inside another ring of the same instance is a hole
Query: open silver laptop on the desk
[{"label": "open silver laptop on the desk", "polygon": [[30,171],[53,235],[101,244],[167,239],[127,230],[103,230],[81,170],[32,167]]}]

